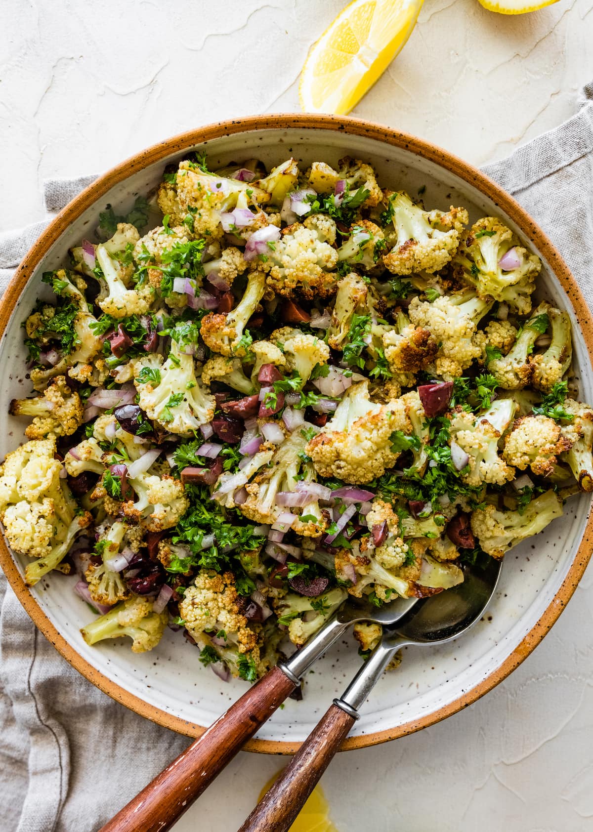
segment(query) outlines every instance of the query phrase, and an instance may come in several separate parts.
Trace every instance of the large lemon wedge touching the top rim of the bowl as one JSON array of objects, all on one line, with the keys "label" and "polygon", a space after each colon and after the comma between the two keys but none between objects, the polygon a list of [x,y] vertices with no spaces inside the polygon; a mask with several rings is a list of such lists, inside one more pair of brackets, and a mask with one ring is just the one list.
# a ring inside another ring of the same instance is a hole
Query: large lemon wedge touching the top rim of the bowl
[{"label": "large lemon wedge touching the top rim of the bowl", "polygon": [[354,0],[314,43],[300,77],[305,112],[345,115],[410,37],[423,0]]}]

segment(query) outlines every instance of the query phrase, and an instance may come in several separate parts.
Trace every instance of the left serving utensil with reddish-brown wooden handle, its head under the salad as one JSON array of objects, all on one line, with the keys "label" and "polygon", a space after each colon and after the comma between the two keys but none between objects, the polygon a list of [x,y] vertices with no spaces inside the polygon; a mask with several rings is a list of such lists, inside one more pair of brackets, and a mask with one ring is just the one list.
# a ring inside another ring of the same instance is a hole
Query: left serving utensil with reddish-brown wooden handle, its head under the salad
[{"label": "left serving utensil with reddish-brown wooden handle, its head under the salad", "polygon": [[418,598],[396,598],[377,609],[368,602],[348,600],[299,651],[269,670],[99,832],[169,830],[349,626],[393,625],[417,602]]}]

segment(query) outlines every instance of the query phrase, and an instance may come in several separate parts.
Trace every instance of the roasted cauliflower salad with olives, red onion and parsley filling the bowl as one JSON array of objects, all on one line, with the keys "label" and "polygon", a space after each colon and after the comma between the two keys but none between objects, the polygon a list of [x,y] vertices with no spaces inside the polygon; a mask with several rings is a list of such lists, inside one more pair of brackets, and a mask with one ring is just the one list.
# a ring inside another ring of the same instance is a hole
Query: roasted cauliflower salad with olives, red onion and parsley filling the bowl
[{"label": "roasted cauliflower salad with olives, red onion and parsley filling the bowl", "polygon": [[357,159],[211,166],[42,276],[0,519],[29,586],[77,576],[88,644],[169,626],[253,682],[348,597],[446,592],[593,491],[593,408],[502,220]]}]

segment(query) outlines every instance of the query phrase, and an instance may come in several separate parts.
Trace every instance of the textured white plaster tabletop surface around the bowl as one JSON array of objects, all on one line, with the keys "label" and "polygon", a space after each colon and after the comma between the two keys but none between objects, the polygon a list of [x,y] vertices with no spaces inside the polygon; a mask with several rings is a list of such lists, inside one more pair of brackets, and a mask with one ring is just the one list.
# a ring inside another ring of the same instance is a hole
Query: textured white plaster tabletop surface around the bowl
[{"label": "textured white plaster tabletop surface around the bowl", "polygon": [[[49,176],[101,172],[210,121],[298,110],[309,44],[342,0],[4,0],[0,230],[43,215]],[[427,0],[354,115],[480,164],[556,126],[593,76],[593,0],[524,17]],[[551,195],[553,198],[553,195]],[[593,830],[593,571],[501,686],[440,725],[339,755],[339,832]],[[283,765],[240,755],[175,826],[232,832]]]}]

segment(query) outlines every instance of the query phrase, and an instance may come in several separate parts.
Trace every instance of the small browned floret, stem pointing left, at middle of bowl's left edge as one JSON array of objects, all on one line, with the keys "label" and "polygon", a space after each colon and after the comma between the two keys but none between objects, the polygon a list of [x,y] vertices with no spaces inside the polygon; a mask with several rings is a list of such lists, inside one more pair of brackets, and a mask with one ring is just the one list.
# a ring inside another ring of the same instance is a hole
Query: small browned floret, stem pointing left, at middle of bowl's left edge
[{"label": "small browned floret, stem pointing left, at middle of bowl's left edge", "polygon": [[8,412],[12,416],[33,416],[25,435],[30,439],[47,436],[70,436],[82,424],[82,401],[58,375],[35,399],[12,399]]}]

